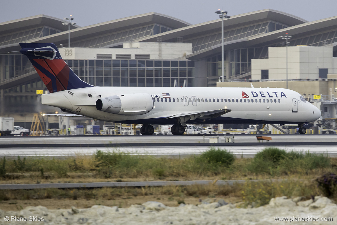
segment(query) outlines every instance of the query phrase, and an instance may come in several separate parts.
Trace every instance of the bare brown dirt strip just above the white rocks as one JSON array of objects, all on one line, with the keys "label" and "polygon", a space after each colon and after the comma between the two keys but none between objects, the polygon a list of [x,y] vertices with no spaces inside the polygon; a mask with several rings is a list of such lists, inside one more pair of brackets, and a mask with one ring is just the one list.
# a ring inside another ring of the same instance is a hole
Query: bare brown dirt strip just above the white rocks
[{"label": "bare brown dirt strip just above the white rocks", "polygon": [[[67,209],[71,206],[76,208],[89,208],[93,205],[105,205],[105,206],[118,206],[118,207],[129,207],[133,204],[142,204],[147,201],[158,201],[167,206],[178,206],[178,200],[184,201],[185,204],[200,204],[199,199],[207,199],[207,196],[195,197],[170,197],[167,195],[149,195],[149,196],[137,196],[137,197],[118,197],[114,200],[86,200],[86,199],[36,199],[36,200],[8,200],[0,201],[0,209],[5,211],[11,210],[21,210],[27,206],[38,206],[42,205],[48,209]],[[236,203],[240,201],[237,197],[220,196],[216,198],[210,198],[212,201],[218,201],[219,199],[225,200],[228,203]]]}]

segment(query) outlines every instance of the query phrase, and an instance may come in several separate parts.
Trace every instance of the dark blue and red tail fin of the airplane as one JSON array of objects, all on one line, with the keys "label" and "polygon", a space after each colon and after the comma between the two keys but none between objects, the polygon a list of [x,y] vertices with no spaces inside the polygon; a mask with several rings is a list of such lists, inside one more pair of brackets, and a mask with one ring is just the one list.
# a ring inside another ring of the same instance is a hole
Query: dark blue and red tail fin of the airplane
[{"label": "dark blue and red tail fin of the airplane", "polygon": [[50,93],[93,87],[82,81],[62,59],[52,43],[19,43],[20,52],[28,57]]}]

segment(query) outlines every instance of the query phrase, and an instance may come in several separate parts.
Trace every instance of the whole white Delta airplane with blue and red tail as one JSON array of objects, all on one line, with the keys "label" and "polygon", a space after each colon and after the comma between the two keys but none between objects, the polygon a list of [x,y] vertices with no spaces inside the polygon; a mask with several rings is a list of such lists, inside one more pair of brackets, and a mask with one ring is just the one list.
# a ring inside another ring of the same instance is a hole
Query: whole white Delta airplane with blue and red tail
[{"label": "whole white Delta airplane with blue and red tail", "polygon": [[42,104],[93,119],[143,124],[173,124],[182,135],[187,123],[298,124],[305,134],[308,122],[321,116],[299,93],[283,88],[97,87],[78,78],[52,43],[19,43],[50,94]]}]

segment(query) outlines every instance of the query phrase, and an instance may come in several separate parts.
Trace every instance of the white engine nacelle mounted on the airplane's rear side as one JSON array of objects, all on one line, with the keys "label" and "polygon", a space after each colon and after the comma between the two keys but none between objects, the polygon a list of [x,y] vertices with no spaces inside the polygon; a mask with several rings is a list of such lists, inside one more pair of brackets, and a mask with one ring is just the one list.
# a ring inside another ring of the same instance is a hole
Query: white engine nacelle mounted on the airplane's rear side
[{"label": "white engine nacelle mounted on the airplane's rear side", "polygon": [[148,93],[119,94],[97,99],[96,109],[119,115],[143,115],[153,109],[153,100]]}]

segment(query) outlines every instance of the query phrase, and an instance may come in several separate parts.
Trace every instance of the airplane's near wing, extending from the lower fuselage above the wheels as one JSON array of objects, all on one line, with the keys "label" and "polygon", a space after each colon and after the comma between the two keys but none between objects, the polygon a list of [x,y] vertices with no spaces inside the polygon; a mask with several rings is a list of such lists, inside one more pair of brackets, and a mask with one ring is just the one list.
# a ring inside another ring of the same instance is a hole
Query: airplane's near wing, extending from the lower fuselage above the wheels
[{"label": "airplane's near wing, extending from the lower fuselage above the wheels", "polygon": [[201,112],[187,112],[187,113],[180,113],[174,116],[167,117],[167,119],[178,118],[182,125],[186,125],[188,120],[194,119],[213,119],[219,117],[223,114],[231,112],[231,109],[216,109],[211,111],[201,111]]}]

